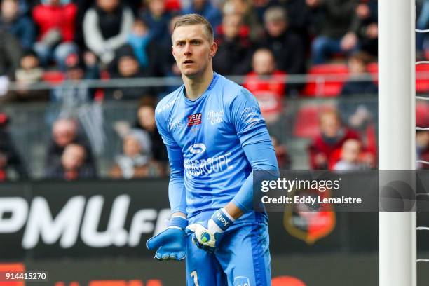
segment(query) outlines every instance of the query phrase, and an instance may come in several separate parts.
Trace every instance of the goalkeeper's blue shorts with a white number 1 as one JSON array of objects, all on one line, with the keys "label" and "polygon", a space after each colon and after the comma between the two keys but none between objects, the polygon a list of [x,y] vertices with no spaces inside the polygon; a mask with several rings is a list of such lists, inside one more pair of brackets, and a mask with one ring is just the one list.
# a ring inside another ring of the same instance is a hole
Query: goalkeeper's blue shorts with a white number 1
[{"label": "goalkeeper's blue shorts with a white number 1", "polygon": [[[207,222],[210,214],[198,214],[191,223]],[[266,286],[271,285],[268,219],[259,215],[256,222],[238,219],[222,236],[210,254],[186,240],[187,286]]]}]

